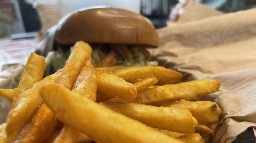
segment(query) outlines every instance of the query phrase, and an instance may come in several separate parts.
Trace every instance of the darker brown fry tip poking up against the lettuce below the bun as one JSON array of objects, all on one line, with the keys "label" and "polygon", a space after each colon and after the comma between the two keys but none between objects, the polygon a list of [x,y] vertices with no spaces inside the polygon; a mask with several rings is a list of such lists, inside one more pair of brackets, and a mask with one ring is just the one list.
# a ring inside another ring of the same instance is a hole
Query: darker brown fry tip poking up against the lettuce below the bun
[{"label": "darker brown fry tip poking up against the lettuce below the bun", "polygon": [[94,67],[110,67],[116,65],[116,54],[111,51],[106,56],[104,56],[99,62],[94,63]]}]

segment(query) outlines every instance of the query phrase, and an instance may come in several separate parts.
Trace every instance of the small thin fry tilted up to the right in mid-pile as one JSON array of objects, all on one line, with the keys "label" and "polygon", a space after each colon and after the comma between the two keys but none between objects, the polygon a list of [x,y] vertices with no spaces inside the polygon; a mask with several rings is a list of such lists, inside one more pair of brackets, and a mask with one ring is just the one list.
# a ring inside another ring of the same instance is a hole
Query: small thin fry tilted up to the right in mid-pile
[{"label": "small thin fry tilted up to the right in mid-pile", "polygon": [[145,77],[137,82],[134,83],[134,86],[137,90],[137,92],[139,91],[143,91],[145,89],[147,89],[148,87],[150,87],[151,85],[154,85],[157,83],[157,78],[155,78],[154,76],[148,76]]}]

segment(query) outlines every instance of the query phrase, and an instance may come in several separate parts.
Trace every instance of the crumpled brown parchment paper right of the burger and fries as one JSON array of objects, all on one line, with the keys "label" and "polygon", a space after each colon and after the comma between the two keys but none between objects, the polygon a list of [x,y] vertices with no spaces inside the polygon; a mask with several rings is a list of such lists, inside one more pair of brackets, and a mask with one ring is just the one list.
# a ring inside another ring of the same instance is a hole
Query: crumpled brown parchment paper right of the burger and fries
[{"label": "crumpled brown parchment paper right of the burger and fries", "polygon": [[231,143],[256,123],[256,9],[224,14],[158,31],[150,49],[160,65],[183,73],[183,81],[218,79],[221,89],[198,100],[217,102],[220,123],[210,143]]}]

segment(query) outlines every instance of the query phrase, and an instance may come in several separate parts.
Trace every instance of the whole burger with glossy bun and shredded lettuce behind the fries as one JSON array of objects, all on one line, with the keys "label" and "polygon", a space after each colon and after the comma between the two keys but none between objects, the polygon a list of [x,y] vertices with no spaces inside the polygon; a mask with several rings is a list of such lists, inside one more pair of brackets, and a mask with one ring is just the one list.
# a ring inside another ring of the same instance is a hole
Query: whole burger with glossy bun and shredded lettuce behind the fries
[{"label": "whole burger with glossy bun and shredded lettuce behind the fries", "polygon": [[112,54],[113,65],[157,66],[156,61],[149,61],[146,50],[158,46],[157,31],[145,17],[125,9],[90,8],[62,18],[54,36],[54,51],[47,57],[53,71],[64,66],[77,41],[93,48],[93,63]]}]

